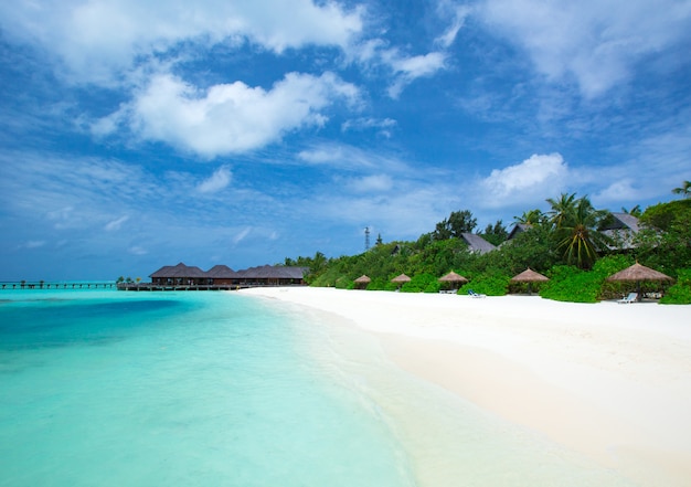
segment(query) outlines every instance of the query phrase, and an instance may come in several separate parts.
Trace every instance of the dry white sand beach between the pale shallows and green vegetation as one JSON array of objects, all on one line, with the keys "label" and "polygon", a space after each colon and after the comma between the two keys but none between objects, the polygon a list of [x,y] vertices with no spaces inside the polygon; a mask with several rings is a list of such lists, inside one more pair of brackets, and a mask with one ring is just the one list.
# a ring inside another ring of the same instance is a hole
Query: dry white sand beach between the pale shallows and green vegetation
[{"label": "dry white sand beach between the pale shallows and green vegetation", "polygon": [[338,317],[374,337],[407,374],[631,485],[691,485],[691,306],[307,287],[241,293]]}]

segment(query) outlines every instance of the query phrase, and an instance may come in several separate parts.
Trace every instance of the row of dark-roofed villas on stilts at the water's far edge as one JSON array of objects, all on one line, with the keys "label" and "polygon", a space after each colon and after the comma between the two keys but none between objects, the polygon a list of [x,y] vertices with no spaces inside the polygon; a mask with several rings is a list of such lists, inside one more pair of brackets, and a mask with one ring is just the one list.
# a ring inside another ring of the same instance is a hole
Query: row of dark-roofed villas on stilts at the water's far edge
[{"label": "row of dark-roofed villas on stilts at the water's far edge", "polygon": [[227,290],[258,286],[305,285],[307,267],[264,265],[233,271],[227,265],[215,265],[209,271],[189,266],[164,265],[149,277],[150,283],[118,283],[120,290]]}]

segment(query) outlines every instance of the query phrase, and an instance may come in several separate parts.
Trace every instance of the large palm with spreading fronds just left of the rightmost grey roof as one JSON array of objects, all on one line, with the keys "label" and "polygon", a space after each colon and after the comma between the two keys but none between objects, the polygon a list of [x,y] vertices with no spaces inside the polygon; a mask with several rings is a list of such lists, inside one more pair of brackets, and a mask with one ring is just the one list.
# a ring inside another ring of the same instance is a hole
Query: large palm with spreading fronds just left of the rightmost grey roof
[{"label": "large palm with spreading fronds just left of the rightmost grey roof", "polygon": [[573,211],[566,213],[556,227],[557,248],[564,250],[568,264],[589,268],[597,260],[597,252],[612,243],[607,235],[597,231],[608,214],[608,211],[595,210],[587,197],[576,200]]}]

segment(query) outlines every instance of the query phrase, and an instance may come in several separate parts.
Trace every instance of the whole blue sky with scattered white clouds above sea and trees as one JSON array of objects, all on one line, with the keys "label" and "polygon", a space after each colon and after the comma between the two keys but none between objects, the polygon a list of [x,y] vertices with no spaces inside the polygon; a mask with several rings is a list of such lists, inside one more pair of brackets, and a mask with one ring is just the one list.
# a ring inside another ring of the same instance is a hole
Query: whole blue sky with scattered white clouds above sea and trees
[{"label": "whole blue sky with scattered white clouds above sea and trees", "polygon": [[670,201],[690,54],[691,0],[0,2],[0,280]]}]

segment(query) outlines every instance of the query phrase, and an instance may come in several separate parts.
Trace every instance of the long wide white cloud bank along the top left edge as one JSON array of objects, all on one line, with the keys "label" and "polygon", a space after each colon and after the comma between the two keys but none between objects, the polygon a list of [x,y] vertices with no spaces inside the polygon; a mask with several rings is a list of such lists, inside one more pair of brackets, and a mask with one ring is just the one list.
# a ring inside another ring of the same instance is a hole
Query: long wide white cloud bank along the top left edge
[{"label": "long wide white cloud bank along the top left edge", "polygon": [[0,2],[6,35],[55,54],[75,81],[104,84],[185,42],[248,40],[278,53],[308,44],[343,47],[362,30],[362,14],[311,0]]}]

